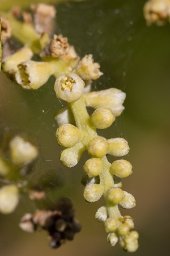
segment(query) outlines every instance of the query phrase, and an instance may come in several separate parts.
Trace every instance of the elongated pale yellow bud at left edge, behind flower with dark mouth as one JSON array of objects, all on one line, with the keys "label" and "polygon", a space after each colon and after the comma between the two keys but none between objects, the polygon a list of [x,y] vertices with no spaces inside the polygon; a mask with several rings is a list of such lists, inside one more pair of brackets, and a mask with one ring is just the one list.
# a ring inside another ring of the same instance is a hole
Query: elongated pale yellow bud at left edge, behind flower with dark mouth
[{"label": "elongated pale yellow bud at left edge, behind flower with dark mouth", "polygon": [[3,71],[15,73],[18,71],[18,65],[23,61],[30,60],[32,56],[33,52],[29,47],[19,49],[19,51],[2,60]]}]

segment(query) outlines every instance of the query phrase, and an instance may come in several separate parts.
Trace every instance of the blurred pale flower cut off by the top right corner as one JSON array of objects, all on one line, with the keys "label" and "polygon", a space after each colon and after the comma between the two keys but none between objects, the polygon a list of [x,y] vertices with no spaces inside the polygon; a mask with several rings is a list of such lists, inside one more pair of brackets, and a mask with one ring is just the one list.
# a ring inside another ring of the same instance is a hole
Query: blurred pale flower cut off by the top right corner
[{"label": "blurred pale flower cut off by the top right corner", "polygon": [[169,0],[148,0],[143,7],[147,25],[156,23],[158,26],[170,22],[170,1]]}]

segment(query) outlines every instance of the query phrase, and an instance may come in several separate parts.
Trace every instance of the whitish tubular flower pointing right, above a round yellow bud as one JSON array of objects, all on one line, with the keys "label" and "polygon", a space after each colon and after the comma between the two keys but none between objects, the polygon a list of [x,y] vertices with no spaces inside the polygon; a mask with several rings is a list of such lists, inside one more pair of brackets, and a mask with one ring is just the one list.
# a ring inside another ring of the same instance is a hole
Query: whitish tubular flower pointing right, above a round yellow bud
[{"label": "whitish tubular flower pointing right, above a round yellow bud", "polygon": [[100,90],[99,92],[90,92],[84,95],[86,106],[91,108],[109,108],[116,117],[125,109],[124,103],[126,94],[116,88]]}]

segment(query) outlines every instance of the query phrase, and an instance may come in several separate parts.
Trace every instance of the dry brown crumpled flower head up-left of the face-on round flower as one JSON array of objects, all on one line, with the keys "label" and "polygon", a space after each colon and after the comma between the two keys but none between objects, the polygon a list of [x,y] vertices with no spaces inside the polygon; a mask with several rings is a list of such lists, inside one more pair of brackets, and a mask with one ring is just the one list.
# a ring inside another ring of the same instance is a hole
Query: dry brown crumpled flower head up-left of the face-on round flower
[{"label": "dry brown crumpled flower head up-left of the face-on round flower", "polygon": [[50,43],[40,52],[40,57],[50,56],[61,58],[66,55],[69,43],[62,35],[54,35]]}]

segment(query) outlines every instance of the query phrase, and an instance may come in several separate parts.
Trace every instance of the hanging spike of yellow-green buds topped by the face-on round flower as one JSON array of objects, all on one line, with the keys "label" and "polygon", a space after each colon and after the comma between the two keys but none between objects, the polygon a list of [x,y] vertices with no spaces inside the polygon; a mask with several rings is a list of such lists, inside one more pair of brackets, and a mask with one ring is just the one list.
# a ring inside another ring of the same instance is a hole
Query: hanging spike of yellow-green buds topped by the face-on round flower
[{"label": "hanging spike of yellow-green buds topped by the face-on round flower", "polygon": [[[133,219],[130,216],[122,217],[118,210],[118,205],[125,209],[135,207],[134,196],[121,189],[121,178],[132,173],[132,166],[124,159],[114,160],[112,164],[107,159],[107,154],[114,157],[125,156],[129,152],[129,145],[124,138],[105,139],[96,133],[96,129],[111,126],[122,113],[125,93],[110,88],[82,94],[75,100],[76,92],[73,86],[76,84],[76,90],[82,91],[82,81],[78,82],[77,78],[71,85],[69,82],[63,82],[63,77],[66,76],[65,81],[68,81],[68,77],[73,75],[63,74],[57,79],[57,86],[62,88],[61,94],[56,90],[56,84],[54,86],[57,97],[69,103],[68,108],[60,110],[55,117],[59,123],[56,131],[57,142],[59,146],[66,147],[61,152],[60,160],[66,167],[74,167],[83,152],[88,152],[91,158],[83,166],[82,177],[82,183],[85,185],[84,198],[93,203],[104,196],[105,205],[97,210],[96,219],[104,222],[108,242],[116,245],[119,241],[125,250],[135,251],[138,248],[138,233],[131,231],[134,228]],[[91,115],[88,115],[88,106],[95,109]],[[69,123],[70,112],[73,114],[75,125]],[[62,118],[62,113],[65,113],[65,118]]]}]

